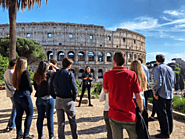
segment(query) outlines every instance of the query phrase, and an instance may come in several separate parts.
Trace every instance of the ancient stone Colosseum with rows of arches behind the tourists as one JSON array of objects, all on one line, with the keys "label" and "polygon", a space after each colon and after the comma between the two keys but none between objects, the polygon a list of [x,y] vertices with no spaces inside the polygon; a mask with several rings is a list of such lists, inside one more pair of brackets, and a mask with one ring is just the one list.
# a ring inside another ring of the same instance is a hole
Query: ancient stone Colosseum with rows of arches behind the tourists
[{"label": "ancient stone Colosseum with rows of arches behind the tourists", "polygon": [[[84,68],[91,67],[94,81],[102,80],[103,73],[112,68],[113,55],[124,52],[129,68],[134,59],[142,58],[146,63],[145,36],[117,28],[105,30],[104,26],[76,23],[32,22],[17,23],[17,36],[39,42],[51,58],[58,60],[70,57],[74,60],[71,71],[80,79]],[[9,34],[9,24],[0,25],[0,37]],[[36,66],[31,67],[33,70]]]}]

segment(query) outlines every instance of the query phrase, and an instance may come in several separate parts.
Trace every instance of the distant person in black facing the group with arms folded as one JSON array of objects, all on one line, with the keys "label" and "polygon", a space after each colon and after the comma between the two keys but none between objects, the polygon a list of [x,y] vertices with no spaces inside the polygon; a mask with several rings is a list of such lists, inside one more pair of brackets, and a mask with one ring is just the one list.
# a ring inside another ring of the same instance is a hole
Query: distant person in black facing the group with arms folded
[{"label": "distant person in black facing the group with arms folded", "polygon": [[92,75],[90,73],[90,70],[91,70],[90,67],[87,66],[85,68],[85,72],[82,75],[82,78],[83,78],[83,82],[82,82],[82,94],[80,96],[80,101],[79,101],[78,107],[80,107],[80,105],[81,105],[81,101],[82,101],[82,98],[84,96],[84,93],[85,93],[85,89],[86,88],[88,90],[89,106],[93,106],[91,104],[91,82],[92,82]]}]

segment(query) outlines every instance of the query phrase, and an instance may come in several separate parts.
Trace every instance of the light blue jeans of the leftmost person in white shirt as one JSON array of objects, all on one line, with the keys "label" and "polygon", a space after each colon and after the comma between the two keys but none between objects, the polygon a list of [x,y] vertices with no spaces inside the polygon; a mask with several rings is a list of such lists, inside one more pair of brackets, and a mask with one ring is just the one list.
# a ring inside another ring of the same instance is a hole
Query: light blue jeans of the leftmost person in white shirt
[{"label": "light blue jeans of the leftmost person in white shirt", "polygon": [[7,127],[13,129],[15,127],[15,118],[16,118],[15,98],[10,97],[10,100],[12,101],[12,113],[11,113],[10,119],[8,121]]}]

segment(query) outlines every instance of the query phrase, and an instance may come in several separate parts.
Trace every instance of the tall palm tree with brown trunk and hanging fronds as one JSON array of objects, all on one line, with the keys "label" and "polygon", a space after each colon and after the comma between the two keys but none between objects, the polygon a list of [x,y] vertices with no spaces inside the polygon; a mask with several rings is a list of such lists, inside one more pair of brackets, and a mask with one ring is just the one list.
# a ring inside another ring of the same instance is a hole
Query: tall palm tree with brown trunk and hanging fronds
[{"label": "tall palm tree with brown trunk and hanging fronds", "polygon": [[[47,3],[47,0],[45,0]],[[8,9],[9,13],[9,61],[16,58],[16,16],[17,9],[21,8],[21,12],[26,7],[30,10],[33,8],[34,4],[37,4],[37,7],[41,6],[41,0],[0,0],[0,5],[3,9]]]}]

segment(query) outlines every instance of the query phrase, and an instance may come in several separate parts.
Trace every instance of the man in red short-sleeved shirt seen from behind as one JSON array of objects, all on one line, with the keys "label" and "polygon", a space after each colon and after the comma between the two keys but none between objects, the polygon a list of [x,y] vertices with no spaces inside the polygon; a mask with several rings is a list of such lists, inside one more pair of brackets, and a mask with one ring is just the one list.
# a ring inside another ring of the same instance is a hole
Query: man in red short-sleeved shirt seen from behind
[{"label": "man in red short-sleeved shirt seen from behind", "polygon": [[133,93],[140,111],[143,110],[141,88],[135,72],[124,67],[123,52],[114,55],[113,69],[103,75],[103,89],[109,93],[109,118],[114,139],[123,139],[123,129],[130,139],[137,139],[136,105]]}]

